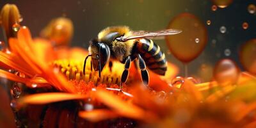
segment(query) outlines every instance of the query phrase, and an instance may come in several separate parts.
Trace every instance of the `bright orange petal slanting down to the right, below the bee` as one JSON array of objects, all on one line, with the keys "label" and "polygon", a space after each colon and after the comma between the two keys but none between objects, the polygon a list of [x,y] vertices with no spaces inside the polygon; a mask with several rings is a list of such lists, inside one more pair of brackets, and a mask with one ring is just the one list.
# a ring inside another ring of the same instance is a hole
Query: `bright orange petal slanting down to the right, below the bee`
[{"label": "bright orange petal slanting down to the right, below the bee", "polygon": [[154,118],[154,116],[152,116],[150,113],[145,113],[143,109],[140,109],[138,106],[133,104],[128,104],[112,93],[106,92],[104,90],[97,90],[94,92],[94,95],[98,100],[114,109],[119,115],[140,120],[145,119],[145,116],[147,116],[147,120]]}]

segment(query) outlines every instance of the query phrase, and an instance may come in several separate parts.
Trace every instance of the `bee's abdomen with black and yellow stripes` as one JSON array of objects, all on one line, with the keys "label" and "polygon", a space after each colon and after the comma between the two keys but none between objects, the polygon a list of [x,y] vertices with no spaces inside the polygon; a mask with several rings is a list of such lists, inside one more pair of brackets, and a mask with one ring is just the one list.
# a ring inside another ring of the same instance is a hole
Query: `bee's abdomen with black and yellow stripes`
[{"label": "bee's abdomen with black and yellow stripes", "polygon": [[167,70],[167,61],[159,45],[152,40],[142,38],[138,40],[138,53],[145,61],[147,68],[159,75],[164,75]]}]

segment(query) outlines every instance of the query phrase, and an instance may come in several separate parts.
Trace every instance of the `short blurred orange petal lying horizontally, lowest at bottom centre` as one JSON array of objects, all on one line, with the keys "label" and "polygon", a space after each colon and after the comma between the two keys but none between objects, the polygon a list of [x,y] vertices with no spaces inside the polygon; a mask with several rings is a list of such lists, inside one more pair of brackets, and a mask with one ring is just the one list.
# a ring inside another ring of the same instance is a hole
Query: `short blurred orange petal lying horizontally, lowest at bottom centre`
[{"label": "short blurred orange petal lying horizontally, lowest at bottom centre", "polygon": [[118,115],[108,109],[95,109],[92,111],[79,111],[79,116],[91,122],[99,122],[109,118],[116,118]]}]

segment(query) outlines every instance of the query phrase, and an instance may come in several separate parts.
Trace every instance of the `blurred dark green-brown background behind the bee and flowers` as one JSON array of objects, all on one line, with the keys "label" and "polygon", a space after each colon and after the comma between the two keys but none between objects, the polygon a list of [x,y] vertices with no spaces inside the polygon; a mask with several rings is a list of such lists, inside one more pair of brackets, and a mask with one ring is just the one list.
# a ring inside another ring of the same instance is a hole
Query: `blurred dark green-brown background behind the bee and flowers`
[{"label": "blurred dark green-brown background behind the bee and flowers", "polygon": [[[218,8],[215,12],[211,10],[212,1],[202,0],[1,0],[0,6],[6,3],[17,4],[23,17],[21,24],[28,26],[33,36],[38,36],[51,19],[68,17],[74,23],[72,46],[85,49],[88,40],[107,26],[126,25],[134,30],[158,30],[166,28],[176,15],[192,13],[205,24],[209,38],[202,54],[189,63],[189,76],[204,77],[203,81],[211,79],[212,67],[221,58],[231,58],[240,66],[239,47],[256,37],[256,16],[248,12],[248,5],[256,4],[255,0],[234,0],[227,8]],[[211,25],[206,24],[207,20],[211,20]],[[243,22],[248,23],[248,29],[243,29]],[[221,26],[227,28],[225,33],[220,32]],[[165,40],[156,42],[168,52]],[[167,58],[180,68],[182,76],[182,63],[172,54],[168,54]],[[205,74],[208,74],[207,77]]]}]

